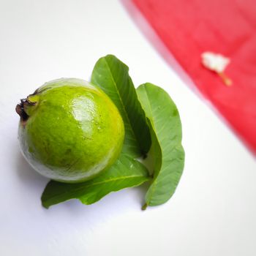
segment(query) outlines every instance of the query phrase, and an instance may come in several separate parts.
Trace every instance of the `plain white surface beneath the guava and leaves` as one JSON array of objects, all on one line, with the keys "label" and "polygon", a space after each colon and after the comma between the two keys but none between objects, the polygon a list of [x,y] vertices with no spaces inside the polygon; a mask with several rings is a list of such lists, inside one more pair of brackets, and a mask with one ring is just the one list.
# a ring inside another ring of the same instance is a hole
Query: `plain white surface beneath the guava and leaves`
[{"label": "plain white surface beneath the guava and leaves", "polygon": [[[0,254],[255,256],[256,164],[252,155],[163,61],[119,1],[0,0]],[[89,79],[113,53],[136,85],[162,86],[176,102],[186,166],[173,198],[140,211],[143,189],[42,208],[47,179],[17,140],[21,97],[45,81]]]}]

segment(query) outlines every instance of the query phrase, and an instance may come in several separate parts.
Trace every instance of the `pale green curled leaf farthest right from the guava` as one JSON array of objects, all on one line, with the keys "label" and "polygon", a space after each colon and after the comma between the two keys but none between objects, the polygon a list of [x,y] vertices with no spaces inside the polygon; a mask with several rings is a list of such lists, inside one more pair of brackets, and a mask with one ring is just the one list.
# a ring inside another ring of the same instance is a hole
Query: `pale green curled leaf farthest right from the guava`
[{"label": "pale green curled leaf farthest right from the guava", "polygon": [[184,169],[181,120],[170,96],[161,88],[145,83],[138,98],[151,124],[154,179],[146,193],[146,206],[165,203],[176,190]]}]

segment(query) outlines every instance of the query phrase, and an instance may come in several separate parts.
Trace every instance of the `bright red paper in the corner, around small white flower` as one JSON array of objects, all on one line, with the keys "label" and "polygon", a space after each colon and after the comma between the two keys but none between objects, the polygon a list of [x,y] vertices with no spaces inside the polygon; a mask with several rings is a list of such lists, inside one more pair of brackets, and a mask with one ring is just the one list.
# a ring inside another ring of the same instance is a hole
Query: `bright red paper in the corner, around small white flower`
[{"label": "bright red paper in the corner, around small white flower", "polygon": [[[204,97],[256,154],[256,1],[132,0]],[[230,58],[219,76],[203,67],[201,53]]]}]

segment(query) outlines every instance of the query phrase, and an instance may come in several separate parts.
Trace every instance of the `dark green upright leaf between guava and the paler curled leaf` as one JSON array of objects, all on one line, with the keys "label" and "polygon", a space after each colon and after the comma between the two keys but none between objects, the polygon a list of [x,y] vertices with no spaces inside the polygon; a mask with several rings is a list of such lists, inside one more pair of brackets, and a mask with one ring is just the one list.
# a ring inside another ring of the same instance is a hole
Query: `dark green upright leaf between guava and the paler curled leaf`
[{"label": "dark green upright leaf between guava and the paler curled leaf", "polygon": [[115,56],[102,57],[95,64],[91,83],[99,86],[113,100],[124,120],[124,154],[140,157],[151,146],[146,116],[141,108],[129,68]]}]

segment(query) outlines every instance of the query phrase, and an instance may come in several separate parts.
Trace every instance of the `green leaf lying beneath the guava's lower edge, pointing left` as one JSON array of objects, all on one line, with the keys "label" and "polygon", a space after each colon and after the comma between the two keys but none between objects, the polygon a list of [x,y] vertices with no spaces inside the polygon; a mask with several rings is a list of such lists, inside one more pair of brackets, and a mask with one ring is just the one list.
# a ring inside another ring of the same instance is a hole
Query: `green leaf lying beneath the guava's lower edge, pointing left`
[{"label": "green leaf lying beneath the guava's lower edge, pointing left", "polygon": [[121,155],[105,173],[90,181],[78,184],[50,181],[42,193],[42,206],[49,208],[72,198],[77,198],[89,205],[110,192],[139,186],[148,180],[148,171],[144,165],[135,159]]}]

